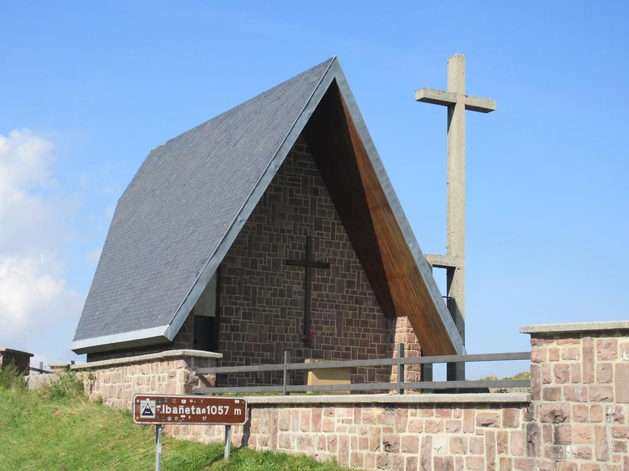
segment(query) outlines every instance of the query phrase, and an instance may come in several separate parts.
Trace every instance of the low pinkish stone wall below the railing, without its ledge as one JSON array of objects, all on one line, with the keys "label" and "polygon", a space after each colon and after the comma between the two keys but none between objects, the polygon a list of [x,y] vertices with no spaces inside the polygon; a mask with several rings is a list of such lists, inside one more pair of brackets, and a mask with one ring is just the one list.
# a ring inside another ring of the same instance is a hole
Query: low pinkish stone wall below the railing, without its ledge
[{"label": "low pinkish stone wall below the railing, without its ledge", "polygon": [[[250,425],[234,428],[233,442],[336,458],[363,469],[533,469],[526,468],[528,403],[495,403],[491,394],[465,404],[449,403],[448,395],[431,396],[429,403],[251,404]],[[522,401],[527,395],[514,396]],[[167,426],[166,431],[204,442],[224,437],[219,426]]]}]

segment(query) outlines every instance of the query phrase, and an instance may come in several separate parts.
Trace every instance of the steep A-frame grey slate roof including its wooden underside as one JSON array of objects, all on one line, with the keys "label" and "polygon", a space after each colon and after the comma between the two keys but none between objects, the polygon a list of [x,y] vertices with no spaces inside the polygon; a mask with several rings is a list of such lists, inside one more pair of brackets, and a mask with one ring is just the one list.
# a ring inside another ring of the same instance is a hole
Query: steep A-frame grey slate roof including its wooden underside
[{"label": "steep A-frame grey slate roof including its wooden underside", "polygon": [[117,204],[72,350],[173,340],[301,134],[385,315],[407,315],[425,353],[462,353],[335,57],[150,152]]}]

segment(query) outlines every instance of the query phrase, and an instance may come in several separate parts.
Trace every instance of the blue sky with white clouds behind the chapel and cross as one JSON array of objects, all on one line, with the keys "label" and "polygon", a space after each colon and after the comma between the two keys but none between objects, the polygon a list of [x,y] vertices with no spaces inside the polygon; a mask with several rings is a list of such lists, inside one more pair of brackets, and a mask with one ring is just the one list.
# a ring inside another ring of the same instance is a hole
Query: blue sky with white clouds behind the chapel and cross
[{"label": "blue sky with white clouds behind the chapel and cross", "polygon": [[[467,57],[468,351],[629,318],[629,4],[0,4],[0,345],[68,347],[148,151],[337,55],[426,253],[445,248],[446,87]],[[439,277],[442,283],[442,277]],[[519,366],[472,366],[470,375]]]}]

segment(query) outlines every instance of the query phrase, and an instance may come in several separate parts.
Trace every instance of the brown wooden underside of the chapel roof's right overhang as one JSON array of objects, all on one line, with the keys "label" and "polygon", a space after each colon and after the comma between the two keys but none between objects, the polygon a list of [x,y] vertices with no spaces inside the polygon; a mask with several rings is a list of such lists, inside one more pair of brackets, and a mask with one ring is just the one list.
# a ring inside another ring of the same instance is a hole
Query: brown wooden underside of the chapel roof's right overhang
[{"label": "brown wooden underside of the chapel roof's right overhang", "polygon": [[335,81],[303,136],[384,315],[408,317],[422,354],[456,354]]}]

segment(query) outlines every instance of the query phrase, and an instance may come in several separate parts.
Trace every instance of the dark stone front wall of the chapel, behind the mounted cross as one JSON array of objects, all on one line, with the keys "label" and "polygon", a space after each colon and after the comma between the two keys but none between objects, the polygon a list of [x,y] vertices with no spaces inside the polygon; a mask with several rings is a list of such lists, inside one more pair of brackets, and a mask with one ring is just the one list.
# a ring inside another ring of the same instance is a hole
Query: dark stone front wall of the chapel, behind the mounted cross
[{"label": "dark stone front wall of the chapel, behind the mounted cross", "polygon": [[[309,345],[302,341],[303,267],[306,236],[315,260]],[[305,141],[294,145],[220,267],[219,352],[221,366],[281,363],[284,350],[294,361],[391,357],[404,338],[420,354],[405,319],[386,319]],[[398,334],[396,329],[403,332]],[[301,374],[301,372],[300,372]],[[391,368],[357,368],[352,382],[386,381]],[[221,384],[268,384],[279,376],[220,377]],[[302,382],[302,377],[296,377]]]}]

